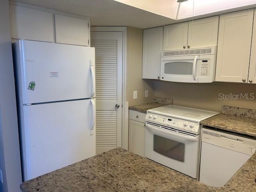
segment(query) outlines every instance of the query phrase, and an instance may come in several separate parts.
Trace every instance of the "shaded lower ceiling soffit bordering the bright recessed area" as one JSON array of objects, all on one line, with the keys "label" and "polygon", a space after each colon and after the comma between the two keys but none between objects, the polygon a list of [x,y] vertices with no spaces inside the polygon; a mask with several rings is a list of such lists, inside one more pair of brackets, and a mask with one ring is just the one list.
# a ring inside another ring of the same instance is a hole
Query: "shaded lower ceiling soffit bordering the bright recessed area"
[{"label": "shaded lower ceiling soffit bordering the bright recessed area", "polygon": [[[141,8],[136,8],[128,4],[118,2],[116,0],[14,0],[15,2],[21,2],[40,6],[48,9],[54,9],[70,14],[76,14],[80,16],[86,16],[90,18],[91,26],[133,26],[137,28],[152,28],[156,26],[163,26],[167,24],[177,23],[186,20],[192,20],[195,18],[202,18],[206,16],[212,16],[222,14],[225,12],[232,12],[236,10],[242,10],[246,8],[252,8],[255,5],[242,6],[239,8],[232,8],[228,10],[222,10],[210,14],[204,14],[200,16],[190,17],[183,20],[175,20],[168,18],[168,15],[162,16],[155,14]],[[138,0],[136,0],[138,1]],[[156,2],[156,0],[147,0],[148,2]],[[169,0],[157,0],[161,4],[160,8],[163,9],[164,5]],[[173,0],[170,0],[173,1]],[[176,0],[175,0],[176,1]],[[169,3],[168,3],[169,4]],[[152,9],[152,6],[148,6]],[[172,10],[172,9],[171,9]],[[166,9],[165,9],[166,11]],[[170,15],[176,15],[170,13]]]}]

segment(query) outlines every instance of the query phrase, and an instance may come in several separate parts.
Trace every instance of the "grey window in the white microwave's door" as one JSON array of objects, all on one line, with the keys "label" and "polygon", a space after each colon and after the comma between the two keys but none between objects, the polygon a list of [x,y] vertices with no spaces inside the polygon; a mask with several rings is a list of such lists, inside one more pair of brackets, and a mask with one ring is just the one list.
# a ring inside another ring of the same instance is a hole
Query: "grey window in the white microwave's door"
[{"label": "grey window in the white microwave's door", "polygon": [[191,62],[169,62],[164,64],[165,74],[192,75],[193,63]]}]

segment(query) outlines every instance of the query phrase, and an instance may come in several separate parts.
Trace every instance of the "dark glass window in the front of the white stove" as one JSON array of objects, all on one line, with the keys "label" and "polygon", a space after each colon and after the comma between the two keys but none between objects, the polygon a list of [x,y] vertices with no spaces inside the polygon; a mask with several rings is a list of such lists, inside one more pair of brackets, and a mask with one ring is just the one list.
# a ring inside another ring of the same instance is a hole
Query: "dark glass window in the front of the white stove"
[{"label": "dark glass window in the front of the white stove", "polygon": [[154,151],[168,158],[184,162],[185,144],[154,135]]}]

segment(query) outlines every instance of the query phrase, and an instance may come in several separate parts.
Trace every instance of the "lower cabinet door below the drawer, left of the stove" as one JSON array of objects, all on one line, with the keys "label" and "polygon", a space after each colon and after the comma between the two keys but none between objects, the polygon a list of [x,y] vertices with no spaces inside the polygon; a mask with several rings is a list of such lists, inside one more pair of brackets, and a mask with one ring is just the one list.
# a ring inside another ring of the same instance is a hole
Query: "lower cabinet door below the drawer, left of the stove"
[{"label": "lower cabinet door below the drawer, left of the stove", "polygon": [[145,156],[145,123],[129,120],[129,151]]}]

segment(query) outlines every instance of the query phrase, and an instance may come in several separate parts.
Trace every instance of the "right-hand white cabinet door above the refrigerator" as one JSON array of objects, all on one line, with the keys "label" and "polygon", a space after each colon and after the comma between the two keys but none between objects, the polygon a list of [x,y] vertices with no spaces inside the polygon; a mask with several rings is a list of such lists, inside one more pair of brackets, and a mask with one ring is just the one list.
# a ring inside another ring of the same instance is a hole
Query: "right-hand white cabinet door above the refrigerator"
[{"label": "right-hand white cabinet door above the refrigerator", "polygon": [[56,43],[89,45],[87,20],[55,14]]}]

